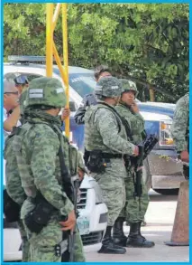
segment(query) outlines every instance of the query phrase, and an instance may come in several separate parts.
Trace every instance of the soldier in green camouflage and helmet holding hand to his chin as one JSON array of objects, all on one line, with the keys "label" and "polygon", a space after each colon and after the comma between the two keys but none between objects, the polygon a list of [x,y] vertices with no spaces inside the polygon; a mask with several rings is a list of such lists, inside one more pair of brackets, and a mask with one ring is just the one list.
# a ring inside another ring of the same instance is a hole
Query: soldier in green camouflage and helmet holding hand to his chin
[{"label": "soldier in green camouflage and helmet holding hand to his chin", "polygon": [[[139,109],[134,102],[138,94],[136,85],[131,80],[121,80],[123,85],[123,94],[119,104],[114,108],[124,119],[129,130],[127,136],[134,145],[142,143],[142,135],[144,134],[144,119],[139,113]],[[138,197],[134,197],[134,182],[130,166],[127,166],[127,175],[124,179],[126,190],[126,203],[122,213],[114,223],[114,242],[121,246],[151,248],[154,242],[147,241],[141,235],[141,224],[149,204],[149,196],[146,186],[142,181],[142,197],[139,202]],[[141,203],[141,205],[139,205]],[[141,206],[141,209],[140,209]],[[130,223],[130,233],[128,238],[123,233],[123,222]]]}]

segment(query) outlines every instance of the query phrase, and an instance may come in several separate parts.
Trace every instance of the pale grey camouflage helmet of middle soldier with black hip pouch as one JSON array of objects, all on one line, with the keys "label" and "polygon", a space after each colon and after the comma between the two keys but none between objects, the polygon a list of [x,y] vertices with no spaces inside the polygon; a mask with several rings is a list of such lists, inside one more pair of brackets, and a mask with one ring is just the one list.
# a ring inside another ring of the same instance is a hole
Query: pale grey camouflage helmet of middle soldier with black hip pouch
[{"label": "pale grey camouflage helmet of middle soldier with black hip pouch", "polygon": [[98,96],[114,98],[121,96],[122,92],[121,81],[113,76],[103,77],[96,83],[95,94]]}]

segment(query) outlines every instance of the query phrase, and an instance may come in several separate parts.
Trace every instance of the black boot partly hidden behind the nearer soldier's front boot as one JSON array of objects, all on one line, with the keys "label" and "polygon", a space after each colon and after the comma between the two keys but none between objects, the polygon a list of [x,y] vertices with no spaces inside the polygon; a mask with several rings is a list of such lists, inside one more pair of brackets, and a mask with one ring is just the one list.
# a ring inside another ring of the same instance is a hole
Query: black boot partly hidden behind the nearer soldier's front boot
[{"label": "black boot partly hidden behind the nearer soldier's front boot", "polygon": [[123,232],[123,222],[123,217],[118,217],[114,222],[113,240],[116,245],[126,247],[127,237],[124,235]]}]

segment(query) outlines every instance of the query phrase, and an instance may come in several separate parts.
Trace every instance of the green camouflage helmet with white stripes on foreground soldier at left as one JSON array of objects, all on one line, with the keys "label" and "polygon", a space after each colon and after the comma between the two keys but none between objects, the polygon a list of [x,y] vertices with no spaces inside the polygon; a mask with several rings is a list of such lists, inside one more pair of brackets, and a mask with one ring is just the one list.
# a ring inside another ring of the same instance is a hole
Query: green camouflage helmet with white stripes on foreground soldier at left
[{"label": "green camouflage helmet with white stripes on foreground soldier at left", "polygon": [[31,81],[27,90],[25,108],[33,105],[62,108],[65,104],[65,91],[58,79],[41,77]]}]

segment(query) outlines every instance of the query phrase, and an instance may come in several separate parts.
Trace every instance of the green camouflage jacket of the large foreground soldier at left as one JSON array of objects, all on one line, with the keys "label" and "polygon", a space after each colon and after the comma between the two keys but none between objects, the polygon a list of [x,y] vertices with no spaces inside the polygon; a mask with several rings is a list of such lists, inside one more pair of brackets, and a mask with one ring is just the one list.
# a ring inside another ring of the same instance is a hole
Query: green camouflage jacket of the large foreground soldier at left
[{"label": "green camouflage jacket of the large foreground soldier at left", "polygon": [[[58,134],[46,123],[41,123],[41,119],[35,118],[35,122],[26,122],[19,134],[21,139],[21,154],[24,163],[12,168],[12,173],[19,172],[20,183],[22,183],[25,194],[35,197],[37,191],[40,191],[43,197],[56,209],[61,215],[68,215],[73,210],[73,204],[69,201],[67,195],[62,191],[60,164],[59,164],[59,137]],[[62,137],[62,147],[64,153],[68,154],[69,145],[65,137]],[[66,166],[69,166],[68,156],[65,157]],[[25,165],[24,165],[25,164]],[[8,194],[14,199],[16,193],[21,195],[19,178],[14,174],[9,174],[14,178],[15,185],[9,185]],[[10,182],[11,183],[11,182]],[[20,199],[21,201],[21,199]]]}]

